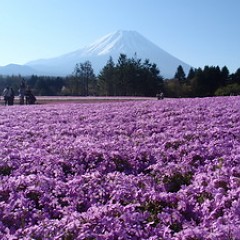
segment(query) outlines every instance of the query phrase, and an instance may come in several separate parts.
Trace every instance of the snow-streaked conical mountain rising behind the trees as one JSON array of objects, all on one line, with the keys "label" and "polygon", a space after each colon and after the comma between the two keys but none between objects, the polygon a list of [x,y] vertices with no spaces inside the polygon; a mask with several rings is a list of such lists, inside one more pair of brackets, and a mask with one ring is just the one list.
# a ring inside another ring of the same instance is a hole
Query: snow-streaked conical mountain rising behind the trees
[{"label": "snow-streaked conical mountain rising behind the trees", "polygon": [[[110,56],[117,63],[120,54],[126,54],[128,58],[135,57],[149,59],[157,64],[160,74],[165,78],[174,76],[177,67],[182,65],[187,74],[190,65],[167,53],[157,45],[143,37],[136,31],[116,31],[110,33],[94,43],[55,58],[39,59],[22,65],[33,74],[66,76],[73,72],[76,63],[90,61],[94,72],[98,74],[106,65]],[[0,73],[3,67],[0,68]]]}]

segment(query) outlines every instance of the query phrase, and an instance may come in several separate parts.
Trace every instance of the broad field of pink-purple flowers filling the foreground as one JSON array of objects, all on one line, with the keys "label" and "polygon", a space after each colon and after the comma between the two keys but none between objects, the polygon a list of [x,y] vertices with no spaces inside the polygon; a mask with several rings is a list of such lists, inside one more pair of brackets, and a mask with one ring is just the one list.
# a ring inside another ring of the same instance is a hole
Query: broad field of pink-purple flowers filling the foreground
[{"label": "broad field of pink-purple flowers filling the foreground", "polygon": [[0,239],[239,240],[240,97],[0,107]]}]

